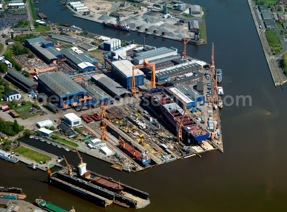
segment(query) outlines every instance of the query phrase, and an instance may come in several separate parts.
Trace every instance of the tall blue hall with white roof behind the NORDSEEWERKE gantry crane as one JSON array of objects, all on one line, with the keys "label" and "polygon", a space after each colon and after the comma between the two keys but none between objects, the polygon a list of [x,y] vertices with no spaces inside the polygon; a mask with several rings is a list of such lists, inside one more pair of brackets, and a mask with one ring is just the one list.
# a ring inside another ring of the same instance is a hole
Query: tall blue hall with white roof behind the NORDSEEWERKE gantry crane
[{"label": "tall blue hall with white roof behind the NORDSEEWERKE gantry crane", "polygon": [[[117,60],[112,62],[112,74],[123,87],[132,87],[133,64],[129,60]],[[144,85],[144,72],[139,69],[134,70],[135,85]]]}]

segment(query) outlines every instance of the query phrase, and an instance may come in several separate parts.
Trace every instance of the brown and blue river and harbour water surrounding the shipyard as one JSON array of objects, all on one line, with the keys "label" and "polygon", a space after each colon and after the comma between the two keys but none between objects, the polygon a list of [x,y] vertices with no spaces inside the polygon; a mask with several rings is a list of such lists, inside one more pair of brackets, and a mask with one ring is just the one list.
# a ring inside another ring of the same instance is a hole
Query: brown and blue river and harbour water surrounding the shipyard
[{"label": "brown and blue river and harbour water surrounding the shipyard", "polygon": [[[147,191],[151,204],[140,211],[286,211],[286,86],[275,88],[247,1],[195,0],[209,7],[206,17],[208,45],[187,45],[187,55],[210,62],[215,45],[215,66],[222,68],[224,94],[250,95],[252,106],[224,106],[221,114],[224,153],[212,151],[138,173],[119,172],[108,163],[83,155],[88,169],[120,179]],[[70,23],[110,37],[142,43],[143,34],[125,33],[71,16],[58,1],[39,0],[39,12],[49,20]],[[147,45],[179,47],[183,43],[147,36]],[[247,101],[247,105],[249,102]],[[63,151],[46,143],[23,139],[56,155]],[[65,152],[77,163],[77,154]],[[46,173],[26,165],[0,160],[1,186],[22,187],[27,200],[38,196],[65,209],[84,211],[137,211],[112,205],[98,207],[43,183]],[[55,169],[55,168],[53,168]],[[53,171],[53,170],[52,170]]]}]

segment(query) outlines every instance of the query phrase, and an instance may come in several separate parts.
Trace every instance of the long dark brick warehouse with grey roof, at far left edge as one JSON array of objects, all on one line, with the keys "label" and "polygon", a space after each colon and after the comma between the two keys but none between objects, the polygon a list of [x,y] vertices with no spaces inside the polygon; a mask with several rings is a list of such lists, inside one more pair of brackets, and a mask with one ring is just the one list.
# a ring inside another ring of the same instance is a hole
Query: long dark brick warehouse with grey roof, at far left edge
[{"label": "long dark brick warehouse with grey roof, at far left edge", "polygon": [[17,87],[21,88],[25,92],[31,92],[37,90],[37,83],[31,81],[27,77],[24,77],[18,71],[15,70],[7,70],[7,74],[5,75],[5,79],[9,82],[13,83]]}]

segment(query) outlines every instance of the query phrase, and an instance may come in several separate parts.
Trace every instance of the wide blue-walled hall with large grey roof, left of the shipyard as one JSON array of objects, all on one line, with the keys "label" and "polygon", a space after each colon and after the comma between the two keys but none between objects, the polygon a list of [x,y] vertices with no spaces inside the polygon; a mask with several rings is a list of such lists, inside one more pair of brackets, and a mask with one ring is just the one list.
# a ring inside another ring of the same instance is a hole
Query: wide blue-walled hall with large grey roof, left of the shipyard
[{"label": "wide blue-walled hall with large grey roof, left of the shipyard", "polygon": [[[38,85],[48,96],[53,96],[53,99],[49,102],[52,101],[52,103],[56,103],[61,108],[77,103],[79,99],[88,95],[88,91],[60,71],[40,75],[38,77]],[[83,104],[95,104],[95,100],[84,102]]]}]

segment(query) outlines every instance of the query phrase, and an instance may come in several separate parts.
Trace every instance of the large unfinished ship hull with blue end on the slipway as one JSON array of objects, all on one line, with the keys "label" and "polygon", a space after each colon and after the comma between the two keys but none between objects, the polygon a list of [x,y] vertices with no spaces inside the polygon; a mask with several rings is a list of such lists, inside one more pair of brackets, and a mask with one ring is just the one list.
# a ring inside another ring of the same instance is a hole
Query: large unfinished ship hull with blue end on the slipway
[{"label": "large unfinished ship hull with blue end on the slipway", "polygon": [[183,118],[183,139],[187,143],[193,140],[201,142],[208,139],[210,133],[206,129],[197,124],[188,114],[183,117],[184,110],[162,89],[157,91],[156,93],[145,93],[145,98],[150,101],[150,105],[163,121],[168,120],[168,123],[177,129],[177,119],[181,120]]}]

